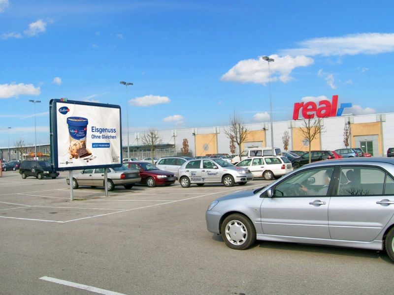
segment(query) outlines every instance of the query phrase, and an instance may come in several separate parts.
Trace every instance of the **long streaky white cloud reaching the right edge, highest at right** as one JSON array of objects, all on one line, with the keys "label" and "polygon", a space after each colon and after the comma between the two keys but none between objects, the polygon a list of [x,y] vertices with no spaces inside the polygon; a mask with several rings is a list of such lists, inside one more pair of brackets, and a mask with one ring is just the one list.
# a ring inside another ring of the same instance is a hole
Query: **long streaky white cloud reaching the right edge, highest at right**
[{"label": "long streaky white cloud reaching the right edge, highest at right", "polygon": [[344,56],[394,51],[394,33],[359,33],[341,37],[314,38],[299,42],[300,48],[283,49],[281,55]]}]

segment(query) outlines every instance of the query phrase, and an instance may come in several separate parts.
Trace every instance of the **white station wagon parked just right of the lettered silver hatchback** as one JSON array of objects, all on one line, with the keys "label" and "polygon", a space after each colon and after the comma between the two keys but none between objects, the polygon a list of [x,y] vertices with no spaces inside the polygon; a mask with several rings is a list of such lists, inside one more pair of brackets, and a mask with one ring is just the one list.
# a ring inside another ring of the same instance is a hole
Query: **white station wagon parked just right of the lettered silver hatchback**
[{"label": "white station wagon parked just right of the lettered silver hatchback", "polygon": [[281,177],[293,171],[290,160],[279,156],[252,157],[242,160],[236,166],[249,169],[253,177],[264,177],[265,180]]}]

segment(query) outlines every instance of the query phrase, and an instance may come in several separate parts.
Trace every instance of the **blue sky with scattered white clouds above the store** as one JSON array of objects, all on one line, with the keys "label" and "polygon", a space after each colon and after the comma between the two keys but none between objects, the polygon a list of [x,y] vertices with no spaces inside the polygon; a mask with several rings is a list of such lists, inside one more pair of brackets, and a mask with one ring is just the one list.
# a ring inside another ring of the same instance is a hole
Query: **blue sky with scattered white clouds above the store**
[{"label": "blue sky with scattered white clouds above the store", "polygon": [[34,144],[34,114],[37,144],[49,143],[49,101],[62,97],[120,105],[124,132],[127,108],[130,132],[228,125],[234,112],[269,121],[269,84],[274,121],[332,95],[353,104],[346,113],[394,112],[393,11],[393,1],[0,0],[0,147]]}]

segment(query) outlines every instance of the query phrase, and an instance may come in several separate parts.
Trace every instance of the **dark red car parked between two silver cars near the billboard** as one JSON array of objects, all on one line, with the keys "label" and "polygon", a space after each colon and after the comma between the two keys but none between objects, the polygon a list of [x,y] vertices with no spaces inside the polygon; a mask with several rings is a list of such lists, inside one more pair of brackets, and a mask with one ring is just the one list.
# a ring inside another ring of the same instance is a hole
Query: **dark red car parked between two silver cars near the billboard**
[{"label": "dark red car parked between two silver cars near the billboard", "polygon": [[160,170],[148,162],[132,161],[129,162],[128,167],[132,170],[139,170],[139,176],[141,177],[140,183],[146,184],[149,187],[155,187],[160,184],[171,185],[176,180],[172,172]]}]

